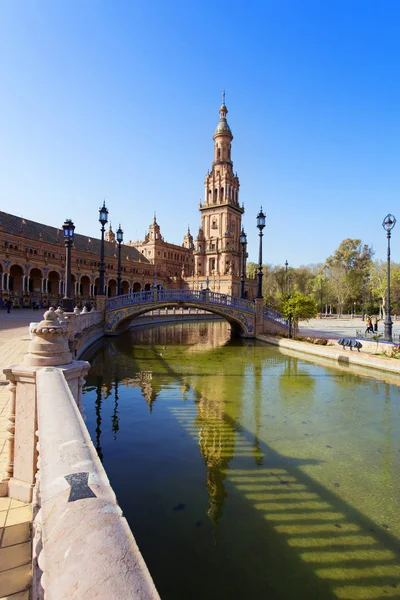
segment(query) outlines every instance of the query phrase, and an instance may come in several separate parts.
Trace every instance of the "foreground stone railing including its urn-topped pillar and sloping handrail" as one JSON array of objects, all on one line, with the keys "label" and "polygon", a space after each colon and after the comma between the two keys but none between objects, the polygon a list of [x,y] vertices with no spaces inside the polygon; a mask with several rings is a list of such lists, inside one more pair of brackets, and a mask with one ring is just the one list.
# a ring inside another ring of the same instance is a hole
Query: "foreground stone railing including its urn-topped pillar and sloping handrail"
[{"label": "foreground stone railing including its urn-topped pillar and sloping handrail", "polygon": [[86,361],[72,360],[54,309],[31,328],[9,380],[11,498],[33,500],[32,600],[157,600],[147,566],[81,417]]}]

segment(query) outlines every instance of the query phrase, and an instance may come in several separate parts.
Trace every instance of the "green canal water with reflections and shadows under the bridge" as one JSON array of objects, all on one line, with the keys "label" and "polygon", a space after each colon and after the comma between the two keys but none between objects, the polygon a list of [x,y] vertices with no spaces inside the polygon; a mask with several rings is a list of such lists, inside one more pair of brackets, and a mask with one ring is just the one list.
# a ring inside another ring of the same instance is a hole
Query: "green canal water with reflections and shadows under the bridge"
[{"label": "green canal water with reflections and shadows under the bridge", "polygon": [[86,422],[164,600],[400,598],[395,379],[231,339],[225,322],[128,332],[84,358]]}]

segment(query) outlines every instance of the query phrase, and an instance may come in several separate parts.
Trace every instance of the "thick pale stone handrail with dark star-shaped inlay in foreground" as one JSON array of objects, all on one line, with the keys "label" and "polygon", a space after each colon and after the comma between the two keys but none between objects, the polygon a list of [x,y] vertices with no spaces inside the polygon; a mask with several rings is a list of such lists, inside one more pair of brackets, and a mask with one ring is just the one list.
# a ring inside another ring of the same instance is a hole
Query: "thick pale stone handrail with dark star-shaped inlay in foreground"
[{"label": "thick pale stone handrail with dark star-shaped inlay in foreground", "polygon": [[63,371],[36,379],[33,597],[159,598]]}]

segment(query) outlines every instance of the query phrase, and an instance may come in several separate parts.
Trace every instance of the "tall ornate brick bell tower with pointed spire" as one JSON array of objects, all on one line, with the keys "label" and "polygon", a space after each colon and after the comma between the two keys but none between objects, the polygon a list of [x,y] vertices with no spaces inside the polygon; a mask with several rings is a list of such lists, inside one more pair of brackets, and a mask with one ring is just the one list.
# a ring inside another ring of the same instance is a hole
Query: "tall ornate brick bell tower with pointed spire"
[{"label": "tall ornate brick bell tower with pointed spire", "polygon": [[201,227],[194,244],[195,275],[240,276],[240,230],[244,207],[239,206],[239,178],[233,173],[233,135],[226,120],[225,92],[220,120],[213,135],[214,161],[205,180]]}]

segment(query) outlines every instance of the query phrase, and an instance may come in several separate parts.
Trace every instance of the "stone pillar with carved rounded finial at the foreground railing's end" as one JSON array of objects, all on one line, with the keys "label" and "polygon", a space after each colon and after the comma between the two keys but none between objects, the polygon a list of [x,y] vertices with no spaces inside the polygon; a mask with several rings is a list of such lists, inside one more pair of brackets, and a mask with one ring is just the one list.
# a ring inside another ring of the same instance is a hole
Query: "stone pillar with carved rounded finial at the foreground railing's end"
[{"label": "stone pillar with carved rounded finial at the foreground railing's end", "polygon": [[72,361],[67,329],[57,319],[53,308],[44,313],[44,320],[33,327],[32,332],[34,337],[23,362],[3,369],[10,382],[11,395],[5,479],[8,480],[8,495],[22,502],[32,500],[37,470],[37,371],[61,367],[79,404],[80,378],[89,369],[86,361]]}]

